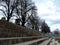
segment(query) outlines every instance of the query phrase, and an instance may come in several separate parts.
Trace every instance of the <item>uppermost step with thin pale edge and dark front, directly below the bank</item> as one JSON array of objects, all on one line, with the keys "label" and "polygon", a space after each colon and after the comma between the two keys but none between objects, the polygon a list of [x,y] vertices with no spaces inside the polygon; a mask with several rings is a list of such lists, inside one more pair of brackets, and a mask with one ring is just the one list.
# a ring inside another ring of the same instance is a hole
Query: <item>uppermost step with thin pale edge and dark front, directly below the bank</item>
[{"label": "uppermost step with thin pale edge and dark front, directly below the bank", "polygon": [[[16,43],[22,43],[26,41],[32,41],[41,39],[41,36],[31,36],[31,37],[11,37],[11,38],[0,38],[0,45],[11,45]],[[45,37],[46,38],[46,37]]]}]

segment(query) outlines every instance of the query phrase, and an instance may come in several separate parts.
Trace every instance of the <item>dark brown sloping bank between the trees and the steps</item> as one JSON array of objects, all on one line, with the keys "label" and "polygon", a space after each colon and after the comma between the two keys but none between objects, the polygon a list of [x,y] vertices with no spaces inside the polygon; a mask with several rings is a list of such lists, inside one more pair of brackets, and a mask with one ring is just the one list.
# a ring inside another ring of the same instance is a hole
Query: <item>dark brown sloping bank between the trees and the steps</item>
[{"label": "dark brown sloping bank between the trees and the steps", "polygon": [[0,20],[0,37],[39,36],[40,34],[39,31]]}]

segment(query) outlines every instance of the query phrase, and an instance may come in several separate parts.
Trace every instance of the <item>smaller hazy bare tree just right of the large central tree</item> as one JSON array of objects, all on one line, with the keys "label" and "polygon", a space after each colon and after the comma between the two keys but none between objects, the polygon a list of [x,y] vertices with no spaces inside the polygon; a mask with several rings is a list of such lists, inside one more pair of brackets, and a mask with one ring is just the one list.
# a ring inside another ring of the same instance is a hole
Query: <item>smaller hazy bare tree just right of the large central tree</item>
[{"label": "smaller hazy bare tree just right of the large central tree", "polygon": [[39,22],[39,18],[37,16],[36,7],[31,9],[31,15],[28,17],[28,19],[29,19],[28,24],[32,25],[31,28],[34,30],[39,30],[40,22]]}]

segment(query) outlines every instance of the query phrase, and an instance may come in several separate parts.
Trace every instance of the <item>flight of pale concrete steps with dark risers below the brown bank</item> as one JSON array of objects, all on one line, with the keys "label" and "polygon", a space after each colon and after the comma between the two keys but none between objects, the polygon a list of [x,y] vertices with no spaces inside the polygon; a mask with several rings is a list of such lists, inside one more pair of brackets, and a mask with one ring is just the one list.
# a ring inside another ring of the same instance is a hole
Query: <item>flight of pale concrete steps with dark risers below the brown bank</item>
[{"label": "flight of pale concrete steps with dark risers below the brown bank", "polygon": [[40,36],[0,38],[0,45],[48,45],[51,39]]}]

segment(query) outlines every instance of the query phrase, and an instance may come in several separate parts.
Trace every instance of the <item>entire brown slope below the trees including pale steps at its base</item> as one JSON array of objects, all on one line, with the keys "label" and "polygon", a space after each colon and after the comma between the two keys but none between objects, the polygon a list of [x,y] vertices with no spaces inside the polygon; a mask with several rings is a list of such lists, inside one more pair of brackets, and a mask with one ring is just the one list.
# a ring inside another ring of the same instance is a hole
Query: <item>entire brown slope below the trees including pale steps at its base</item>
[{"label": "entire brown slope below the trees including pale steps at its base", "polygon": [[0,20],[0,45],[49,45],[49,35]]}]

